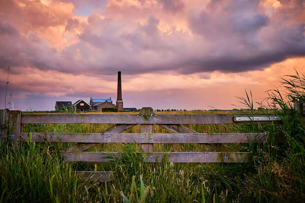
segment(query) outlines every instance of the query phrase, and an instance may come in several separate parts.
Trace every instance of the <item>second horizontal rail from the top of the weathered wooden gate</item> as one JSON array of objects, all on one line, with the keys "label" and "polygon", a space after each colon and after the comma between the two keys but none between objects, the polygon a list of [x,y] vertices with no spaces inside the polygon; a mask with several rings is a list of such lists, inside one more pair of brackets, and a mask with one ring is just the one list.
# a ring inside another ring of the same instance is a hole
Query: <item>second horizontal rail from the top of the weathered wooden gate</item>
[{"label": "second horizontal rail from the top of the weathered wooden gate", "polygon": [[263,142],[265,133],[21,133],[34,142],[60,143],[249,143]]}]

